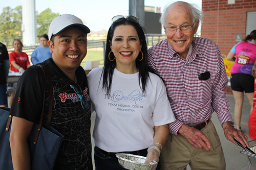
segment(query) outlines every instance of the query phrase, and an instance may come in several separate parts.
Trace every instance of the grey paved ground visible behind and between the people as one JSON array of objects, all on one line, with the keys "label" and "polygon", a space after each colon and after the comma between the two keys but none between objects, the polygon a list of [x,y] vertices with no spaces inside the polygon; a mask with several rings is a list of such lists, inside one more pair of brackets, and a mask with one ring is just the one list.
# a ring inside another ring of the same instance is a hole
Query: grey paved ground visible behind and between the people
[{"label": "grey paved ground visible behind and between the people", "polygon": [[[227,98],[230,102],[230,112],[234,119],[234,99],[233,95],[227,94]],[[241,120],[241,127],[244,131],[244,133],[248,136],[248,118],[250,115],[250,104],[248,102],[248,99],[244,98],[244,104],[243,104],[243,114],[242,114],[242,120]],[[94,121],[95,121],[95,112],[92,114],[92,128],[91,132],[93,131],[94,127]],[[215,127],[218,131],[218,134],[221,139],[222,148],[225,154],[225,160],[226,160],[226,170],[239,170],[243,169],[248,166],[247,162],[247,156],[240,153],[241,147],[234,145],[229,140],[227,140],[224,136],[223,129],[220,125],[220,122],[217,118],[217,114],[214,113],[211,118],[212,122],[215,124]],[[248,138],[248,141],[251,139]],[[94,148],[94,142],[92,140],[92,148]],[[93,156],[94,152],[92,153]],[[190,169],[189,166],[187,169]],[[256,168],[255,168],[256,169]],[[217,170],[217,169],[216,169]]]}]

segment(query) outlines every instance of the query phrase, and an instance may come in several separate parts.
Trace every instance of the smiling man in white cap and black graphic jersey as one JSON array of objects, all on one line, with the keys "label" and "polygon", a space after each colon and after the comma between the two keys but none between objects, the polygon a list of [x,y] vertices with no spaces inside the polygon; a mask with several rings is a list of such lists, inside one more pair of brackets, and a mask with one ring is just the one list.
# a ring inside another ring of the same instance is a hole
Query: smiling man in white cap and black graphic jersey
[{"label": "smiling man in white cap and black graphic jersey", "polygon": [[[89,28],[74,15],[57,16],[49,28],[52,58],[42,62],[53,84],[51,126],[64,137],[54,169],[93,169],[91,158],[91,105],[86,74],[80,63],[87,54]],[[32,66],[19,79],[10,114],[10,145],[14,169],[30,169],[27,138],[39,122],[44,95],[41,68]],[[49,86],[49,84],[47,84]],[[47,123],[49,91],[43,122]]]}]

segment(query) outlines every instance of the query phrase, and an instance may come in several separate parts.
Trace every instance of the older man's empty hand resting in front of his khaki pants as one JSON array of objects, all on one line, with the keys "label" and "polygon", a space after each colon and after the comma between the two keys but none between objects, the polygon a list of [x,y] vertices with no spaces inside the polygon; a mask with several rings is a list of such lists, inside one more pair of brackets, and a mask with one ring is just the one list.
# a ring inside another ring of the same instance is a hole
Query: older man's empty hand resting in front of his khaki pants
[{"label": "older man's empty hand resting in front of his khaki pants", "polygon": [[196,149],[204,148],[206,151],[210,151],[210,141],[200,130],[184,124],[178,133],[184,136]]}]

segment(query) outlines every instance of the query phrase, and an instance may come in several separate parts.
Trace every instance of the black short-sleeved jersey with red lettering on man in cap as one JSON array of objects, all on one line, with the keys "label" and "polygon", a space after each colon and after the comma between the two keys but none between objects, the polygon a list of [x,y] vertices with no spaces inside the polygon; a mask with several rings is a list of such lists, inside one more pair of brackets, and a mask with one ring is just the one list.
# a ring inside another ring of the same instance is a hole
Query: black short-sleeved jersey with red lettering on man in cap
[{"label": "black short-sleeved jersey with red lettering on man in cap", "polygon": [[[75,75],[89,106],[83,109],[80,98],[70,85],[72,81],[52,60],[41,63],[50,72],[53,84],[51,126],[63,136],[54,169],[92,169],[91,158],[91,105],[86,74],[81,66]],[[39,66],[29,67],[17,85],[10,111],[11,115],[38,123],[44,93],[44,73]],[[49,108],[49,82],[43,121],[47,123]]]}]

